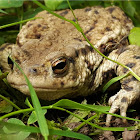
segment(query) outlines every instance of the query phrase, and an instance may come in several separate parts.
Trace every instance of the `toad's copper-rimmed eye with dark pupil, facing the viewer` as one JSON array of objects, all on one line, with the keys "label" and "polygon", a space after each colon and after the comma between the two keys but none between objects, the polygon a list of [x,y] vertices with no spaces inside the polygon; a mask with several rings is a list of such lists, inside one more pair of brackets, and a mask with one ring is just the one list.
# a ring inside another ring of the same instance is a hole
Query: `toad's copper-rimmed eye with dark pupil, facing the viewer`
[{"label": "toad's copper-rimmed eye with dark pupil, facing the viewer", "polygon": [[59,58],[52,63],[52,70],[54,74],[64,74],[68,69],[66,58]]}]

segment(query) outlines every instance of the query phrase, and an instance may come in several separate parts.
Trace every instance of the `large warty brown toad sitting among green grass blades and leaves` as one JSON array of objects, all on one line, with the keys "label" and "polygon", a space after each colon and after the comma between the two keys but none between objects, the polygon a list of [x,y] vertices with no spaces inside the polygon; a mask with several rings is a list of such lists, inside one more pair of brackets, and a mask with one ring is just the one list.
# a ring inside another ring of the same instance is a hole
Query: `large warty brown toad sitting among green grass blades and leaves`
[{"label": "large warty brown toad sitting among green grass blades and leaves", "polygon": [[[118,7],[91,7],[74,10],[74,13],[96,48],[140,74],[140,49],[128,46],[125,38],[133,24]],[[57,14],[75,21],[70,10]],[[46,11],[37,17],[43,18],[30,21],[21,29],[12,56],[28,76],[39,98],[55,100],[87,96],[113,73],[123,75],[128,72],[95,52],[71,23]],[[23,75],[15,66],[7,79],[11,86],[30,94]],[[121,80],[121,84],[121,90],[109,100],[110,113],[120,109],[121,115],[126,116],[128,106],[139,98],[140,82],[129,76]],[[108,115],[107,125],[110,120]]]}]

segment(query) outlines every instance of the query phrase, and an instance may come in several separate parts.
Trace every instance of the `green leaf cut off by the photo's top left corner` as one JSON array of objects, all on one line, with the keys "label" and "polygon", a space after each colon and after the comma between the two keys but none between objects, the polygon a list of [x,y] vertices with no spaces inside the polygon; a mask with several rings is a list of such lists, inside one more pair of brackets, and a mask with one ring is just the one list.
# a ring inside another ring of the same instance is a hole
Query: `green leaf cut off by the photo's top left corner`
[{"label": "green leaf cut off by the photo's top left corner", "polygon": [[23,5],[23,0],[0,0],[0,9],[20,7]]}]

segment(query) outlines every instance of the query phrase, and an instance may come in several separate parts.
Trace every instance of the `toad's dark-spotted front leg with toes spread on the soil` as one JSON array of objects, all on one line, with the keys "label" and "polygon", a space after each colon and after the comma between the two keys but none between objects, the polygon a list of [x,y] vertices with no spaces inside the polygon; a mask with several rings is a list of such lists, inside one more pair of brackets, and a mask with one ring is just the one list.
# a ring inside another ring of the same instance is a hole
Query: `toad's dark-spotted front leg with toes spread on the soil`
[{"label": "toad's dark-spotted front leg with toes spread on the soil", "polygon": [[[119,55],[118,62],[130,67],[137,75],[140,75],[140,47],[130,45],[125,52]],[[122,66],[118,66],[117,75],[123,75],[128,70]],[[132,75],[122,79],[121,90],[109,99],[111,109],[109,113],[115,113],[120,110],[120,115],[126,117],[128,107],[140,98],[140,81]],[[106,125],[110,125],[111,115],[107,115]],[[124,119],[124,121],[126,121]]]}]

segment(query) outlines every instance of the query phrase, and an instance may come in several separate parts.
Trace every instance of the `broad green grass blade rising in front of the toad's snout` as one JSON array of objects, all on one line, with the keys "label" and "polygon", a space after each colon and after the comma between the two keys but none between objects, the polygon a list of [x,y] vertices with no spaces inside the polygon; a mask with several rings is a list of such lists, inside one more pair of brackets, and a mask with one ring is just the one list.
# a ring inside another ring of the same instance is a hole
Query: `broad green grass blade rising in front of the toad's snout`
[{"label": "broad green grass blade rising in front of the toad's snout", "polygon": [[47,140],[48,139],[47,137],[49,136],[49,130],[48,130],[48,126],[47,126],[46,119],[43,114],[40,102],[36,95],[36,92],[35,92],[33,86],[31,85],[30,81],[28,80],[27,76],[24,74],[23,70],[18,66],[18,64],[11,57],[10,57],[10,59],[13,61],[13,63],[16,65],[16,67],[22,72],[22,74],[24,75],[24,77],[26,79],[26,82],[27,82],[27,85],[29,87],[29,91],[31,94],[32,103],[33,103],[33,106],[34,106],[34,109],[35,109],[35,112],[37,115],[37,120],[38,120],[41,134],[44,136],[45,140]]}]

